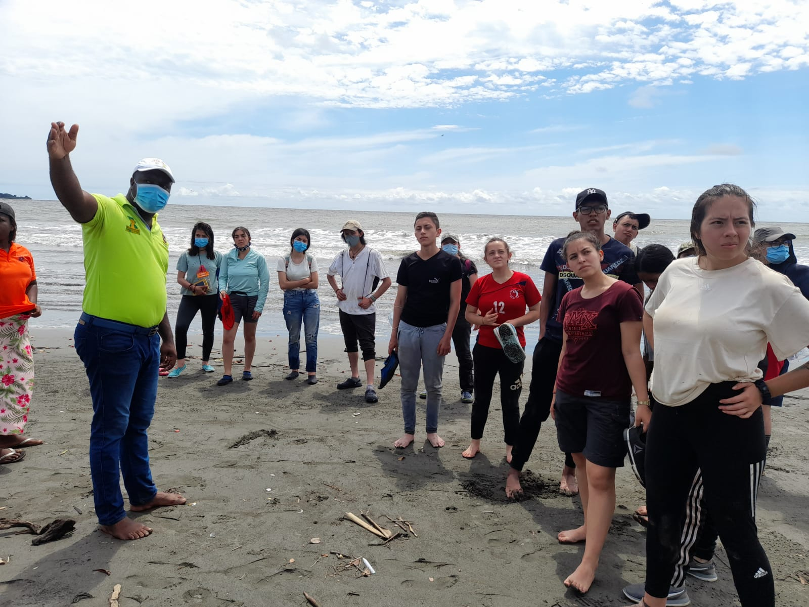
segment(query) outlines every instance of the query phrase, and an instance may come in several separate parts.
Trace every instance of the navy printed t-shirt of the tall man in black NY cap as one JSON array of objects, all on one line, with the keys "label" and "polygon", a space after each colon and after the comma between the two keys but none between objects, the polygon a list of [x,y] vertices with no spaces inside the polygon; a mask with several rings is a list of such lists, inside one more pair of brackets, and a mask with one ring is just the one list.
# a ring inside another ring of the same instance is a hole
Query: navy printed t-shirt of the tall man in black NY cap
[{"label": "navy printed t-shirt of the tall man in black NY cap", "polygon": [[[565,240],[565,238],[554,240],[548,247],[548,251],[545,252],[542,265],[540,265],[542,270],[556,274],[557,277],[555,301],[551,308],[553,312],[545,322],[545,335],[559,343],[561,343],[561,324],[557,320],[557,313],[561,298],[584,284],[584,281],[567,267],[567,262],[562,257],[561,245],[565,244]],[[607,244],[602,245],[601,250],[604,251],[604,260],[601,261],[601,270],[604,271],[604,274],[628,282],[630,285],[641,282],[635,274],[635,254],[632,253],[631,248],[610,238]]]}]

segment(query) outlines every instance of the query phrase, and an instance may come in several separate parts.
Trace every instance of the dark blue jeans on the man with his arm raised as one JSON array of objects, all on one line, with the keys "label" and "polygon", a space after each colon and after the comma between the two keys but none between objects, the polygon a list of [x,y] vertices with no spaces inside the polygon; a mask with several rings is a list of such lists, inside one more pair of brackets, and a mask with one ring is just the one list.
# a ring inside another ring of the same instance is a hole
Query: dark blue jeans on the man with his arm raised
[{"label": "dark blue jeans on the man with his arm raised", "polygon": [[116,524],[126,516],[119,469],[133,506],[150,502],[157,493],[146,429],[155,414],[160,337],[149,332],[85,313],[74,332],[93,401],[90,474],[100,524]]}]

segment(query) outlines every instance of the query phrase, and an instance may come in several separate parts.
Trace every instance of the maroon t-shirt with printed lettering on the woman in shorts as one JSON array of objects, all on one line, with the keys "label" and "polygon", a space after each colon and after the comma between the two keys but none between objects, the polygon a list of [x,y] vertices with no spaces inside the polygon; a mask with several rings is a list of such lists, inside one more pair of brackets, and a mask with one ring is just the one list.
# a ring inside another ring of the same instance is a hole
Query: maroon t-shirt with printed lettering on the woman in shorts
[{"label": "maroon t-shirt with printed lettering on the woman in shorts", "polygon": [[626,282],[615,282],[591,299],[582,297],[582,287],[565,294],[557,313],[567,335],[557,388],[575,396],[616,400],[632,396],[632,380],[621,353],[621,323],[642,317],[641,296]]}]

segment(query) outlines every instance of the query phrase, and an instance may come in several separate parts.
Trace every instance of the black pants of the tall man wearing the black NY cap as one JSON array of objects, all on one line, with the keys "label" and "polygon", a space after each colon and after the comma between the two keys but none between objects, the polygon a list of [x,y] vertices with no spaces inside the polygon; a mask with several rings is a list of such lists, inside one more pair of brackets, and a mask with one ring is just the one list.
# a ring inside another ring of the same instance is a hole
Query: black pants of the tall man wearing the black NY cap
[{"label": "black pants of the tall man wearing the black NY cap", "polygon": [[[511,452],[511,467],[522,470],[531,457],[536,438],[540,435],[542,422],[551,414],[553,386],[561,356],[561,342],[543,337],[534,347],[531,369],[531,386],[523,416],[519,418],[519,434]],[[480,372],[476,370],[476,373]],[[565,461],[566,464],[566,461]]]}]

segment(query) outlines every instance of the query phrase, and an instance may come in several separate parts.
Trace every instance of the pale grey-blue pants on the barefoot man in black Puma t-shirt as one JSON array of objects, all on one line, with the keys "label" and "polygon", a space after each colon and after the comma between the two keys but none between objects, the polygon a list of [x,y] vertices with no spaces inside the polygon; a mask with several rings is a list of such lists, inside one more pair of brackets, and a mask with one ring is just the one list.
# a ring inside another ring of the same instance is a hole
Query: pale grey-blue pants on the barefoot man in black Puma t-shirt
[{"label": "pale grey-blue pants on the barefoot man in black Puma t-shirt", "polygon": [[444,336],[447,324],[414,327],[399,323],[399,372],[404,434],[416,434],[416,390],[421,367],[424,367],[424,385],[427,388],[427,434],[438,431],[438,410],[441,409],[441,379],[444,358],[438,356],[438,342]]}]

